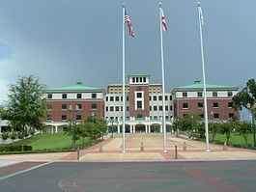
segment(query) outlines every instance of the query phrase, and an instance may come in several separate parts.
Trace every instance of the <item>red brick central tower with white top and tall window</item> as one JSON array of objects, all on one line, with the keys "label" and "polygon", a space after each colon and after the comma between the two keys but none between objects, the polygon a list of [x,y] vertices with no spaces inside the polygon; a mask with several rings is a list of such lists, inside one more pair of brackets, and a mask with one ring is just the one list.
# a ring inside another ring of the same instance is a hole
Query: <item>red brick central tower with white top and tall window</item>
[{"label": "red brick central tower with white top and tall window", "polygon": [[148,74],[128,75],[129,84],[129,117],[150,117]]}]

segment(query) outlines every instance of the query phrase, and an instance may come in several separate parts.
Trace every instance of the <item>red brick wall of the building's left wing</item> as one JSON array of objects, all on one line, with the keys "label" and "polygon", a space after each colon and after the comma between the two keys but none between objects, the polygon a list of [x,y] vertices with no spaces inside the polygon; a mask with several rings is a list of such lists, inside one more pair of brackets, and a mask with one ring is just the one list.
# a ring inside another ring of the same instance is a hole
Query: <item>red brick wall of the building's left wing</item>
[{"label": "red brick wall of the building's left wing", "polygon": [[[82,120],[84,120],[88,115],[94,114],[98,117],[104,117],[104,102],[102,100],[86,100],[86,101],[47,101],[47,103],[52,105],[52,110],[47,111],[47,115],[52,115],[52,120],[54,122],[62,122],[62,115],[67,115],[67,120],[73,120],[72,113],[69,110],[70,104],[72,108],[75,109],[76,104],[82,104],[82,109],[74,112],[76,115],[81,115]],[[97,104],[97,109],[92,109],[92,103]],[[68,109],[62,110],[62,104],[67,104]]]}]

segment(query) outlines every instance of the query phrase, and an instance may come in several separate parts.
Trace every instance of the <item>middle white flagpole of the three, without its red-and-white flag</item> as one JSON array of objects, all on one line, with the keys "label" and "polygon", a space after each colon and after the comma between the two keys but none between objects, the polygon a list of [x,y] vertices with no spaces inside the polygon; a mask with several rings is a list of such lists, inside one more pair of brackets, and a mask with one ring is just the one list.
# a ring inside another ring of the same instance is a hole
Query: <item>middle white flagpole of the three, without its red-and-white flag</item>
[{"label": "middle white flagpole of the three, without its red-and-white flag", "polygon": [[162,132],[163,132],[163,152],[167,152],[166,142],[166,121],[165,121],[165,85],[164,85],[164,65],[163,65],[163,43],[162,43],[162,23],[161,23],[161,3],[159,3],[160,19],[160,44],[161,44],[161,78],[162,78]]}]

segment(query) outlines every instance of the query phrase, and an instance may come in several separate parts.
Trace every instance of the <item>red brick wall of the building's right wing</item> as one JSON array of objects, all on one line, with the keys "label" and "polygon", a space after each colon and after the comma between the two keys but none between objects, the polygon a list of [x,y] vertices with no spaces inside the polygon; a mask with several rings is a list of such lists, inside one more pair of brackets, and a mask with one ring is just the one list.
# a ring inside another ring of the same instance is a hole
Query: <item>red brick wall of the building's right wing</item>
[{"label": "red brick wall of the building's right wing", "polygon": [[[239,111],[235,111],[235,109],[228,107],[228,102],[231,102],[232,99],[208,99],[208,119],[213,120],[213,114],[219,114],[219,120],[228,120],[229,113],[234,113],[235,116],[240,118]],[[198,102],[203,102],[204,99],[176,99],[173,103],[174,107],[174,117],[184,117],[187,113],[197,113],[204,114],[204,107],[199,108]],[[218,102],[218,107],[213,107],[213,102]],[[188,108],[183,108],[183,103],[188,103]]]}]

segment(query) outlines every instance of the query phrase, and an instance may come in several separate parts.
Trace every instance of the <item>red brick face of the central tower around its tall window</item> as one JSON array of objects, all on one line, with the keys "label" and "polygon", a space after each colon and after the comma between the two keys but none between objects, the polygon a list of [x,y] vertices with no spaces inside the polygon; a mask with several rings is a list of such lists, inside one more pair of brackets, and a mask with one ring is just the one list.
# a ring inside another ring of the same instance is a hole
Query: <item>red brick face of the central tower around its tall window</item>
[{"label": "red brick face of the central tower around its tall window", "polygon": [[[141,89],[138,90],[138,87]],[[144,110],[135,110],[135,91],[144,92]],[[149,96],[149,85],[130,85],[129,86],[129,116],[137,117],[142,115],[143,118],[150,116],[150,96]]]}]

